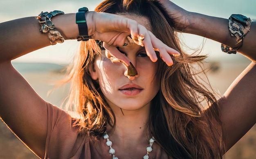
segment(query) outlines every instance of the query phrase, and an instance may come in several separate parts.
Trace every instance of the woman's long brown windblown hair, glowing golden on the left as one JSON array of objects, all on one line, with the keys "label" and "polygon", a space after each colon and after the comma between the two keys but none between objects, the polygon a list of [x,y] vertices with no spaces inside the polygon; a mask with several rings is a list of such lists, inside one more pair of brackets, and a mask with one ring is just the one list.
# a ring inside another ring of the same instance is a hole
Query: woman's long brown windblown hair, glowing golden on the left
[{"label": "woman's long brown windblown hair, glowing golden on the left", "polygon": [[[155,0],[106,0],[95,11],[146,17],[153,34],[181,52],[181,57],[173,57],[171,67],[162,60],[157,62],[156,78],[161,88],[151,103],[147,133],[174,159],[222,158],[225,146],[218,102],[211,87],[202,81],[204,71],[199,71],[206,56],[182,51],[173,27],[175,19]],[[100,53],[97,41],[81,42],[67,77],[72,87],[67,105],[74,107],[81,118],[74,126],[79,126],[80,133],[96,137],[107,126],[115,127],[115,115],[88,70]]]}]

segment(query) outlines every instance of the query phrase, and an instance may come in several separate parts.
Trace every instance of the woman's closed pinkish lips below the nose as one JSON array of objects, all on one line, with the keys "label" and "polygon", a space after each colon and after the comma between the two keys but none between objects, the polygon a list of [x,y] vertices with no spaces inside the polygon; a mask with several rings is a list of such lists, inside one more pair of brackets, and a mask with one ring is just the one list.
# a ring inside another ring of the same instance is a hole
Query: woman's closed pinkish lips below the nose
[{"label": "woman's closed pinkish lips below the nose", "polygon": [[121,93],[126,96],[136,96],[142,90],[143,90],[143,88],[141,88],[139,85],[135,85],[135,84],[132,84],[132,85],[127,84],[127,85],[122,86],[119,89],[119,91],[121,91]]}]

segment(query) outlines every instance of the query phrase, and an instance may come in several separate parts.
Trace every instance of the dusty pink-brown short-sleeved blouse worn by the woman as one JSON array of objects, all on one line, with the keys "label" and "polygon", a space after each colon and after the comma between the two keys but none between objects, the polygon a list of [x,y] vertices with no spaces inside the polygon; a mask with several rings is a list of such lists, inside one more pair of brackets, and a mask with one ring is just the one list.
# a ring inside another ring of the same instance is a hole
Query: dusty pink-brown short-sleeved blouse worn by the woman
[{"label": "dusty pink-brown short-sleeved blouse worn by the woman", "polygon": [[[78,127],[72,126],[74,118],[58,107],[47,104],[47,111],[44,159],[112,159],[103,138],[95,141],[87,134],[79,135]],[[162,149],[157,149],[156,159],[170,159]]]}]

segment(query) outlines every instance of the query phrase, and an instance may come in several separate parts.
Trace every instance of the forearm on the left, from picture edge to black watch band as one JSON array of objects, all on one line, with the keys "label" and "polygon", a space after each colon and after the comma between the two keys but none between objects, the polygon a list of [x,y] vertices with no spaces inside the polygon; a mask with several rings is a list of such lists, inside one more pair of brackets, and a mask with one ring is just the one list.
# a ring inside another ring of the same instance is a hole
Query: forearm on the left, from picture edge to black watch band
[{"label": "forearm on the left, from picture edge to black watch band", "polygon": [[[74,39],[79,34],[74,13],[55,16],[52,22],[65,39]],[[0,62],[50,45],[47,33],[40,33],[40,24],[35,17],[1,23],[0,30]]]}]

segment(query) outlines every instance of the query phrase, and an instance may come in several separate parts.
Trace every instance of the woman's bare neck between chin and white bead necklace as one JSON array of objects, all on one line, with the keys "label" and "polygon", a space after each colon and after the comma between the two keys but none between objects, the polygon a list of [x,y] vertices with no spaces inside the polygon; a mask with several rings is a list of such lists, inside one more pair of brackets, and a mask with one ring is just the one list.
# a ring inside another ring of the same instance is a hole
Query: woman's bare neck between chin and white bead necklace
[{"label": "woman's bare neck between chin and white bead necklace", "polygon": [[115,129],[108,129],[108,134],[115,144],[121,147],[148,144],[146,124],[149,118],[150,104],[137,110],[112,108],[116,117]]}]

